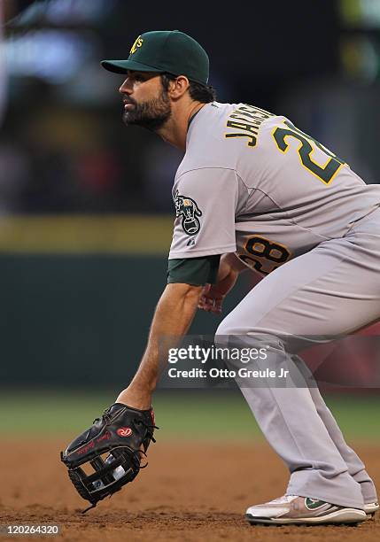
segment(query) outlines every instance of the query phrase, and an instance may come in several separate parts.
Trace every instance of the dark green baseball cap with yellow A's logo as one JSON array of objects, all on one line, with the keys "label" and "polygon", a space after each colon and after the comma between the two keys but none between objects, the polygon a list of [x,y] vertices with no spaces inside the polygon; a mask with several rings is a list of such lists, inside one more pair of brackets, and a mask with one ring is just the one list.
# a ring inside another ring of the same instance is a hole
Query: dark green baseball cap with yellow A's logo
[{"label": "dark green baseball cap with yellow A's logo", "polygon": [[179,30],[145,32],[136,38],[127,60],[102,60],[109,72],[127,74],[158,72],[186,75],[190,81],[207,84],[209,60],[203,49],[190,35]]}]

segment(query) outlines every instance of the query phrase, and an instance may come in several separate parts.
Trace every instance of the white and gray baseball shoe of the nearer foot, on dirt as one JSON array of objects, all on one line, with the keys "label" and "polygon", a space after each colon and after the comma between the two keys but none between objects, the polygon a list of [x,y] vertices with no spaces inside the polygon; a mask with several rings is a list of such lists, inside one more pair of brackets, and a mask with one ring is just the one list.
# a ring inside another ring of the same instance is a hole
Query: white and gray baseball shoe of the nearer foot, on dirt
[{"label": "white and gray baseball shoe of the nearer foot, on dirt", "polygon": [[274,525],[322,523],[361,523],[366,513],[358,508],[338,507],[323,500],[283,495],[265,504],[249,507],[245,517],[252,525],[267,523]]}]

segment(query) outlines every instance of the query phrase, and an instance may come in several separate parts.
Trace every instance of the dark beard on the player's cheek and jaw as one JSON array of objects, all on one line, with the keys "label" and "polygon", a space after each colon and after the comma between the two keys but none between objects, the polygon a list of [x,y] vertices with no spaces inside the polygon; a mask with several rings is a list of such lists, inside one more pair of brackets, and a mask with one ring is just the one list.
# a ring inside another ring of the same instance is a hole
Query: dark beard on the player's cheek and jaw
[{"label": "dark beard on the player's cheek and jaw", "polygon": [[134,99],[128,97],[128,103],[133,104],[134,108],[123,112],[122,119],[126,126],[142,126],[155,132],[164,126],[172,114],[170,100],[165,90],[158,98],[148,102],[137,104]]}]

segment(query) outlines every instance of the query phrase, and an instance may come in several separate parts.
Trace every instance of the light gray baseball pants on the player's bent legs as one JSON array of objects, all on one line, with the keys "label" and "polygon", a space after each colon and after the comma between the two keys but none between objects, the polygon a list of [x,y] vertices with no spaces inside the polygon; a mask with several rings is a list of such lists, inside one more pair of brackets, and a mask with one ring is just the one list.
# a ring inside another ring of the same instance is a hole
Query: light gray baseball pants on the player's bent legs
[{"label": "light gray baseball pants on the player's bent legs", "polygon": [[[288,348],[286,336],[341,336],[378,318],[380,210],[356,222],[345,237],[322,242],[266,276],[221,322],[217,339],[244,336],[257,345],[255,337],[283,337],[268,365],[283,356],[293,375],[304,375],[304,362]],[[375,485],[317,388],[239,385],[290,469],[287,494],[356,508],[376,500]]]}]

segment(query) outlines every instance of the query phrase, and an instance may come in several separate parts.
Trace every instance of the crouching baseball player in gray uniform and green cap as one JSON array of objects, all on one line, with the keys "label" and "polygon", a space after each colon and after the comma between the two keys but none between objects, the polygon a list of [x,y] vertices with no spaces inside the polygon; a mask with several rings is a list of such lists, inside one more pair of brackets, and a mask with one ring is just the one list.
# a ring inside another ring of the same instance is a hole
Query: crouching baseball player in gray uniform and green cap
[{"label": "crouching baseball player in gray uniform and green cap", "polygon": [[[189,35],[147,32],[128,59],[102,65],[124,74],[125,124],[184,151],[167,287],[140,367],[111,414],[149,411],[160,337],[186,334],[198,307],[219,314],[247,267],[264,278],[216,336],[248,345],[266,337],[269,365],[284,360],[305,375],[292,337],[312,344],[307,337],[341,336],[380,318],[380,186],[366,185],[286,117],[216,102],[206,52]],[[242,391],[290,471],[283,497],[248,508],[250,523],[360,523],[376,512],[375,486],[316,387]]]}]

